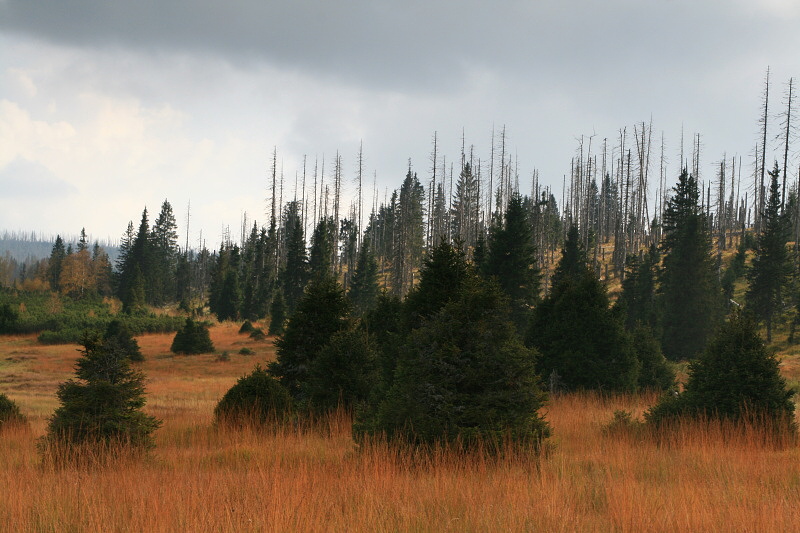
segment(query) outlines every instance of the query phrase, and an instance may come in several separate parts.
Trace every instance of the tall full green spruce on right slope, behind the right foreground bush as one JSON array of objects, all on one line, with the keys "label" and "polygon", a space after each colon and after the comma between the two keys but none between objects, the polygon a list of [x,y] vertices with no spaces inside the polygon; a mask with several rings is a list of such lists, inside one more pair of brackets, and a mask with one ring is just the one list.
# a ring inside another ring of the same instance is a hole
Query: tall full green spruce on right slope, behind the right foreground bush
[{"label": "tall full green spruce on right slope, behind the right foreground bush", "polygon": [[659,290],[662,348],[677,361],[703,350],[724,307],[697,180],[684,170],[673,190],[664,211]]}]

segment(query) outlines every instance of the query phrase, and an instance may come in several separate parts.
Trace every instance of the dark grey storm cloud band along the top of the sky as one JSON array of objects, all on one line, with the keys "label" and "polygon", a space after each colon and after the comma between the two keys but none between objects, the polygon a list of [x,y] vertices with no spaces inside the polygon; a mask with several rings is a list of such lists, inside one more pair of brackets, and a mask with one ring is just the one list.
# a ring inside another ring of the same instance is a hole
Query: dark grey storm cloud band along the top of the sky
[{"label": "dark grey storm cloud band along the top of the sky", "polygon": [[580,87],[623,70],[690,70],[719,60],[720,49],[733,54],[761,26],[737,18],[735,4],[5,0],[0,30],[76,46],[263,61],[383,90],[452,90],[473,67],[534,86]]}]

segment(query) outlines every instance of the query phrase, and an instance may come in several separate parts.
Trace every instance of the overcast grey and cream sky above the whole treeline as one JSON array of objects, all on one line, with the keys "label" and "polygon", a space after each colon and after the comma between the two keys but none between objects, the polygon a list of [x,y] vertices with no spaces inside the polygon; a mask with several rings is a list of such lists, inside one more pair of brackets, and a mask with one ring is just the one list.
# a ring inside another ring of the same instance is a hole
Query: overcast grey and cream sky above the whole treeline
[{"label": "overcast grey and cream sky above the whole treeline", "polygon": [[671,182],[682,133],[701,178],[724,155],[747,175],[768,67],[782,160],[797,28],[797,0],[0,0],[0,232],[116,241],[167,199],[214,248],[268,222],[273,150],[289,199],[337,152],[352,195],[363,146],[371,205],[409,160],[428,182],[434,134],[439,165],[463,137],[488,167],[504,127],[523,192],[651,121]]}]

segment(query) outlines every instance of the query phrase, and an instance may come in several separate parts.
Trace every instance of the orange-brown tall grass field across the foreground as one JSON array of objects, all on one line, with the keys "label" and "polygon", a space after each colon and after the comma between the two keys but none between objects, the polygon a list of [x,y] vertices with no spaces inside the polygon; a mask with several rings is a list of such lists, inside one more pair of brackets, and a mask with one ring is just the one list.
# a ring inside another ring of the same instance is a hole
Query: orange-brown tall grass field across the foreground
[{"label": "orange-brown tall grass field across the foreground", "polygon": [[553,398],[539,458],[357,447],[343,414],[315,431],[217,430],[217,400],[274,352],[234,325],[211,335],[230,361],[139,337],[146,410],[164,421],[149,457],[60,468],[41,463],[36,439],[77,347],[0,337],[0,392],[31,420],[0,434],[0,531],[800,531],[800,449],[720,425],[604,432],[648,395]]}]

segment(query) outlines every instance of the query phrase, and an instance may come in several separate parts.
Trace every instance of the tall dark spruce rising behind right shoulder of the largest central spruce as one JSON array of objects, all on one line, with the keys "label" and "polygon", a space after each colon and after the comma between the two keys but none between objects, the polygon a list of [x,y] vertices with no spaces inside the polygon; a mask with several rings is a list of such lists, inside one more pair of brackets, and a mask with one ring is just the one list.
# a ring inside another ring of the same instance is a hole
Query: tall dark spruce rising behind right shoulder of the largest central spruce
[{"label": "tall dark spruce rising behind right shoulder of the largest central spruce", "polygon": [[512,319],[524,335],[531,309],[539,298],[541,275],[527,210],[517,193],[508,201],[502,225],[493,226],[489,232],[485,272],[496,277],[510,298]]}]

